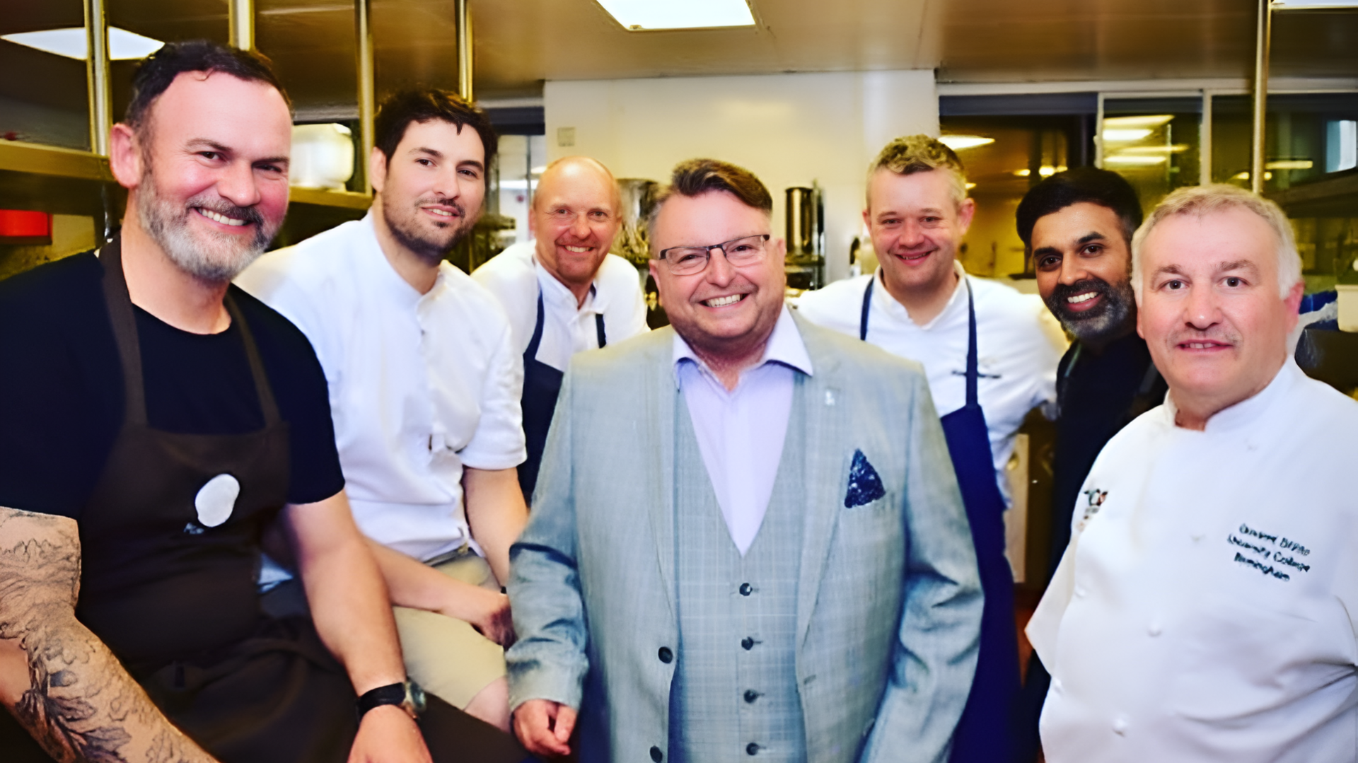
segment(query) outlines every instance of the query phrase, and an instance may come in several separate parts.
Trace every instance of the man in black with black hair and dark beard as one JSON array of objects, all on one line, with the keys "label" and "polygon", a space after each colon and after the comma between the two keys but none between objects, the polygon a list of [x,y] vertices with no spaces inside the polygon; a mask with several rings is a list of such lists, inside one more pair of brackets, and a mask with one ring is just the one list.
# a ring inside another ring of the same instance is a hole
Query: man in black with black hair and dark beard
[{"label": "man in black with black hair and dark beard", "polygon": [[[1058,172],[1019,204],[1019,238],[1038,272],[1038,292],[1074,337],[1057,372],[1051,567],[1070,542],[1080,486],[1104,444],[1160,405],[1165,383],[1137,335],[1131,236],[1141,224],[1137,191],[1116,172]],[[1020,760],[1038,751],[1038,714],[1051,676],[1033,654],[1024,686]]]}]

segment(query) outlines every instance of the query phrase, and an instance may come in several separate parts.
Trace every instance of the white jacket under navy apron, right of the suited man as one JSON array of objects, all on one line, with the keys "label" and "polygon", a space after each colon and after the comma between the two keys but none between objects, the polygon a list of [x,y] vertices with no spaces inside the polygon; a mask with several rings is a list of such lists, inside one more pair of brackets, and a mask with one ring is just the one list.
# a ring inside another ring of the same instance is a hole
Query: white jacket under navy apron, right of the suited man
[{"label": "white jacket under navy apron, right of the suited man", "polygon": [[[976,395],[990,430],[995,482],[1008,501],[1005,467],[1013,455],[1014,437],[1029,410],[1055,405],[1057,364],[1066,352],[1065,337],[1036,295],[972,278],[960,265],[956,267],[971,284],[975,300],[980,373]],[[877,282],[872,288],[868,342],[925,367],[929,394],[940,417],[967,405],[967,289],[961,278],[942,312],[923,326],[911,320],[904,305],[891,296],[880,269],[873,276],[846,278],[807,292],[797,299],[797,310],[812,323],[857,338],[869,278]]]}]

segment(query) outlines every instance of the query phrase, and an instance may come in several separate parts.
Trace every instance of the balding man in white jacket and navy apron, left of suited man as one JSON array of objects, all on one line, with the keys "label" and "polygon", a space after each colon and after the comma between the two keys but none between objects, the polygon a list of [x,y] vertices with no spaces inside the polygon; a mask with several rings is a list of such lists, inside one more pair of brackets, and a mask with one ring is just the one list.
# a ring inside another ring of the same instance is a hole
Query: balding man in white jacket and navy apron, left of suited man
[{"label": "balding man in white jacket and navy apron, left of suited man", "polygon": [[528,231],[471,274],[509,315],[515,353],[523,356],[523,430],[527,460],[519,485],[532,498],[538,466],[570,356],[646,330],[641,277],[608,254],[622,227],[618,183],[588,156],[557,159],[532,196]]}]

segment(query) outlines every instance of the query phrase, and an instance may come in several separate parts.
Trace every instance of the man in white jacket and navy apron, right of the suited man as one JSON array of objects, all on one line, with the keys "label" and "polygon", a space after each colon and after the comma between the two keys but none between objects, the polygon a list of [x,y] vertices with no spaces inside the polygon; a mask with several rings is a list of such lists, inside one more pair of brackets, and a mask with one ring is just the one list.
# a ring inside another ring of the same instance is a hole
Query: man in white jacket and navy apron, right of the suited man
[{"label": "man in white jacket and navy apron, right of the suited man", "polygon": [[1062,342],[1043,327],[1035,296],[963,272],[956,254],[974,213],[952,149],[928,136],[896,138],[873,163],[864,210],[881,267],[803,295],[799,308],[925,367],[986,593],[976,676],[952,760],[993,763],[1008,760],[1019,690],[1004,467],[1024,417],[1055,396]]}]

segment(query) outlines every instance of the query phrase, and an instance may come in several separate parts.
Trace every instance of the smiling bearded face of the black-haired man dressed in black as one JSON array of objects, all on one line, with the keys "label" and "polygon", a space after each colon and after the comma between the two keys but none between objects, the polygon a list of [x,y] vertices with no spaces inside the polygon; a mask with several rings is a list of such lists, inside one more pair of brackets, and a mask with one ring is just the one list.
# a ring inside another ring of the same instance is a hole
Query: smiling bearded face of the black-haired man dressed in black
[{"label": "smiling bearded face of the black-haired man dressed in black", "polygon": [[1038,292],[1067,331],[1107,343],[1131,331],[1131,251],[1118,213],[1100,204],[1071,204],[1032,227]]}]

